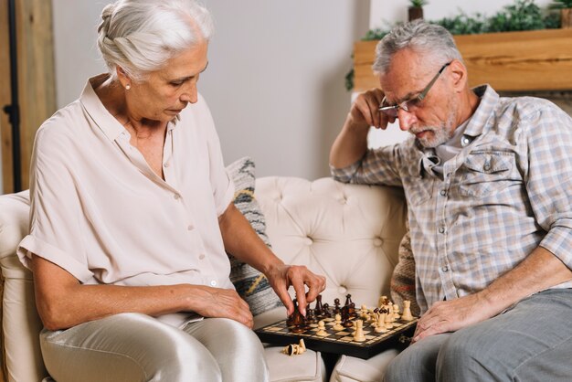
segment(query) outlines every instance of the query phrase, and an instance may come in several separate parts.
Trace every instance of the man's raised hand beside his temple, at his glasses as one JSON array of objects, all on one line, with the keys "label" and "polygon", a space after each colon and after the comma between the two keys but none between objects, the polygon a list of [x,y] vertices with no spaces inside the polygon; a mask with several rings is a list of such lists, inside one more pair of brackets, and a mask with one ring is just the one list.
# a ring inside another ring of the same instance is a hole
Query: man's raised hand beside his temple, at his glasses
[{"label": "man's raised hand beside his temple, at his glasses", "polygon": [[375,126],[386,130],[387,123],[395,122],[385,113],[378,111],[383,101],[384,93],[379,89],[367,90],[357,96],[350,109],[350,121],[356,125]]}]

